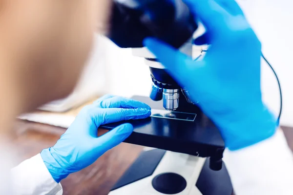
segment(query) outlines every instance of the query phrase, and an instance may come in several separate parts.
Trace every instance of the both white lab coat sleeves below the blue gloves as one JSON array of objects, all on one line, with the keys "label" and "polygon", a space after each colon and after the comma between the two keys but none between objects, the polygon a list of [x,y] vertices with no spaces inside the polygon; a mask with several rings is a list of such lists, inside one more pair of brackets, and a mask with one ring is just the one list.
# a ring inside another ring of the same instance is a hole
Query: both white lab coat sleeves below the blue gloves
[{"label": "both white lab coat sleeves below the blue gloves", "polygon": [[[293,195],[293,154],[282,131],[253,146],[224,154],[236,195]],[[40,154],[13,168],[11,176],[10,190],[18,195],[63,193]]]}]

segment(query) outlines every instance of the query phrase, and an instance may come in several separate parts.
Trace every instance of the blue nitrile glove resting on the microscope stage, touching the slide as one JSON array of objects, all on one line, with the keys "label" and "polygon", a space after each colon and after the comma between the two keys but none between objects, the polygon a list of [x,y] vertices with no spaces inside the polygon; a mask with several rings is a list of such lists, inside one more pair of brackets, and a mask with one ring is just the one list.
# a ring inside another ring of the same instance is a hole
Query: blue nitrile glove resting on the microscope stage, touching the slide
[{"label": "blue nitrile glove resting on the microscope stage, touching the slide", "polygon": [[128,98],[106,95],[85,106],[55,146],[41,152],[42,159],[56,182],[91,165],[107,150],[120,144],[133,131],[122,124],[101,137],[100,125],[150,116],[150,107]]}]

